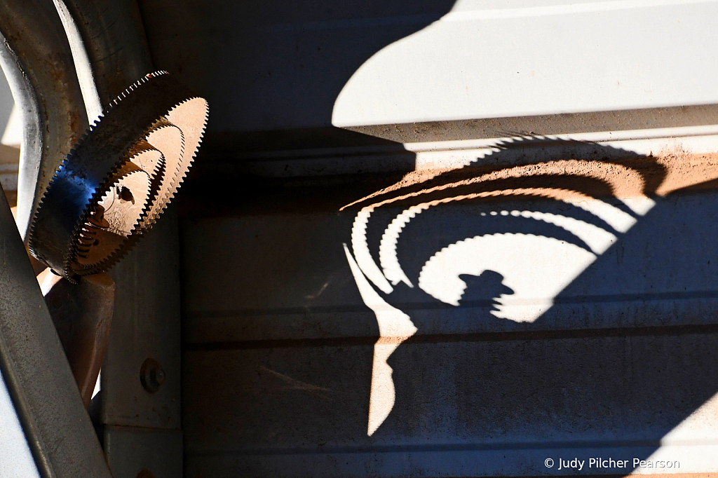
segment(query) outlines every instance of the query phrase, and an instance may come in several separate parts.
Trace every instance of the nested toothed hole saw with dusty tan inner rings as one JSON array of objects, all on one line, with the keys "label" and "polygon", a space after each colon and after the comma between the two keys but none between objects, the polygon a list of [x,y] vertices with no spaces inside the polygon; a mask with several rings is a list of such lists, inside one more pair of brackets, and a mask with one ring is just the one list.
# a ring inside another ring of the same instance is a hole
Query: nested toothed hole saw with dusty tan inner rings
[{"label": "nested toothed hole saw with dusty tan inner rings", "polygon": [[208,109],[167,72],[131,85],[52,177],[32,220],[32,255],[66,278],[113,266],[174,197]]}]

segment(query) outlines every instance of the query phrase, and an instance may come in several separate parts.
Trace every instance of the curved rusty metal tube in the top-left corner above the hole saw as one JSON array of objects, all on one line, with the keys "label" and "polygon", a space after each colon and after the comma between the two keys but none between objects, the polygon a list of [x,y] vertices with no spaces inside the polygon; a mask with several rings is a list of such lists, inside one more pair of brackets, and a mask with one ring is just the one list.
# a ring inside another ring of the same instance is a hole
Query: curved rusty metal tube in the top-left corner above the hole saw
[{"label": "curved rusty metal tube in the top-left corner above the hole saw", "polygon": [[0,34],[0,60],[23,118],[17,222],[27,240],[42,192],[88,120],[70,45],[52,2],[2,2]]}]

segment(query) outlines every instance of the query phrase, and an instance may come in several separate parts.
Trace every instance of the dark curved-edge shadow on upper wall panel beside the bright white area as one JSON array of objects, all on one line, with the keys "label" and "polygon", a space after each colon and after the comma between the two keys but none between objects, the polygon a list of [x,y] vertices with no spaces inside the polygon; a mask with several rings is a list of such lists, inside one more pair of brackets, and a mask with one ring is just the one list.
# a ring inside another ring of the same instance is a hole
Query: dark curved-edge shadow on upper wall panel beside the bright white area
[{"label": "dark curved-edge shadow on upper wall panel beside the bright white area", "polygon": [[202,154],[215,161],[248,149],[389,144],[334,128],[337,96],[376,52],[437,21],[454,0],[139,4],[154,66],[213,105]]}]

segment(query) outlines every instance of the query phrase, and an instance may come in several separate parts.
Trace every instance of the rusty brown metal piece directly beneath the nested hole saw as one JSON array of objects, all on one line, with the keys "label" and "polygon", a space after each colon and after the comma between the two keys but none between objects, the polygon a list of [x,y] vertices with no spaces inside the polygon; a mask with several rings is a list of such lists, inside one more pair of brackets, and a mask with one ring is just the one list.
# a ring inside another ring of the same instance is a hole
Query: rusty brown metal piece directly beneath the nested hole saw
[{"label": "rusty brown metal piece directly beneath the nested hole saw", "polygon": [[77,284],[50,271],[46,275],[45,304],[88,408],[107,349],[115,283],[106,273],[79,278]]}]

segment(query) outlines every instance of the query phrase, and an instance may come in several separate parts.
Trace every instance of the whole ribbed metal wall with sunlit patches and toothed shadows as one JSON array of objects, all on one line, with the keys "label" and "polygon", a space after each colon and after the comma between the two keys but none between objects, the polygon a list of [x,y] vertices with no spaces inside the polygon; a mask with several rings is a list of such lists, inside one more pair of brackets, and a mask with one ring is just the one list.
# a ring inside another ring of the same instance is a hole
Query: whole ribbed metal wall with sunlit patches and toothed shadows
[{"label": "whole ribbed metal wall with sunlit patches and toothed shadows", "polygon": [[140,4],[185,476],[717,471],[714,2]]}]

